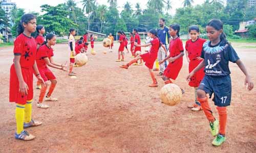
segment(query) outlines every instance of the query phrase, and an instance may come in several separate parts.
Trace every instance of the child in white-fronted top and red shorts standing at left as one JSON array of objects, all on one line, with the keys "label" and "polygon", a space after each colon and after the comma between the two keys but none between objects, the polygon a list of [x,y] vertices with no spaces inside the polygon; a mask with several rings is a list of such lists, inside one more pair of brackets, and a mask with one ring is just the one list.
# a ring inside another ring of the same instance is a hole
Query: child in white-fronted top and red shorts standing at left
[{"label": "child in white-fronted top and red shorts standing at left", "polygon": [[71,28],[69,30],[69,49],[70,49],[70,65],[69,65],[69,75],[73,76],[76,75],[76,73],[73,72],[73,67],[75,64],[75,38],[76,30]]}]

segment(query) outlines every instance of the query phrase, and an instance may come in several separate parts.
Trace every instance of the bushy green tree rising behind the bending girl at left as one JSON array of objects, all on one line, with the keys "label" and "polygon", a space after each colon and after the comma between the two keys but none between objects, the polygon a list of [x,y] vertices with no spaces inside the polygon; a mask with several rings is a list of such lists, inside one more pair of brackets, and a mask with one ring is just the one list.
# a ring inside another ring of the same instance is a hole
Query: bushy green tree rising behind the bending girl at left
[{"label": "bushy green tree rising behind the bending girl at left", "polygon": [[77,24],[67,17],[69,11],[65,9],[65,5],[42,5],[41,8],[45,14],[38,16],[37,22],[44,25],[48,32],[63,36],[69,33],[70,28],[78,27]]}]

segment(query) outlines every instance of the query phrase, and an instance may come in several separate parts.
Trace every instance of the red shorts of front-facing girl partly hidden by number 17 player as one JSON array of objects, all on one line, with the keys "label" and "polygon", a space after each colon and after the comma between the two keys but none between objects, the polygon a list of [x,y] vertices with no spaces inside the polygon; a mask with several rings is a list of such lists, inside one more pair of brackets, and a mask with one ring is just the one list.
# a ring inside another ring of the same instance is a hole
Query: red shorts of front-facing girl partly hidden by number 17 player
[{"label": "red shorts of front-facing girl partly hidden by number 17 player", "polygon": [[[189,62],[189,66],[188,66],[188,70],[189,70],[189,73],[191,71],[193,71],[200,63],[202,62],[202,60],[191,60]],[[193,75],[190,79],[190,82],[188,83],[188,85],[190,87],[199,87],[201,81],[203,80],[204,78],[204,68],[200,69],[199,71],[197,71],[195,73],[195,75]]]}]

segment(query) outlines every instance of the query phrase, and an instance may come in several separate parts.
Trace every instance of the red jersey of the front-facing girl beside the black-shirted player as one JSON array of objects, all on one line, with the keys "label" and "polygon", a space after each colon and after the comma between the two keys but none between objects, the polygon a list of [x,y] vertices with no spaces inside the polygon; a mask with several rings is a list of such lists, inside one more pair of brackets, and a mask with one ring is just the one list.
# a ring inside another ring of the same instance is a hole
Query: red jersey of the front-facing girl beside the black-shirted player
[{"label": "red jersey of the front-facing girl beside the black-shirted player", "polygon": [[189,39],[186,41],[186,50],[188,52],[188,58],[190,61],[195,60],[197,57],[201,57],[203,44],[206,40],[202,38],[198,38],[196,41],[192,41],[192,39]]}]

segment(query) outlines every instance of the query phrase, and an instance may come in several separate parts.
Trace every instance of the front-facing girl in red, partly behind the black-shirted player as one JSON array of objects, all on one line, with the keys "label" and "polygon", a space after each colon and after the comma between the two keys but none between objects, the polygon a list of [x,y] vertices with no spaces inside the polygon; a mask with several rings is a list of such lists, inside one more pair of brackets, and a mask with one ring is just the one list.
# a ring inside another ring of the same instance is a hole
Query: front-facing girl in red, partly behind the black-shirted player
[{"label": "front-facing girl in red, partly behind the black-shirted player", "polygon": [[[203,49],[203,44],[206,41],[205,39],[199,38],[199,27],[197,25],[191,25],[188,28],[188,33],[191,39],[186,41],[186,58],[187,62],[189,63],[188,70],[189,73],[193,71],[201,62],[201,52]],[[193,77],[191,77],[188,85],[190,87],[195,88],[195,103],[188,108],[191,108],[192,111],[201,111],[202,107],[197,100],[197,90],[204,78],[204,68],[201,68],[197,71]]]}]

